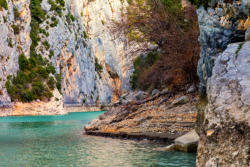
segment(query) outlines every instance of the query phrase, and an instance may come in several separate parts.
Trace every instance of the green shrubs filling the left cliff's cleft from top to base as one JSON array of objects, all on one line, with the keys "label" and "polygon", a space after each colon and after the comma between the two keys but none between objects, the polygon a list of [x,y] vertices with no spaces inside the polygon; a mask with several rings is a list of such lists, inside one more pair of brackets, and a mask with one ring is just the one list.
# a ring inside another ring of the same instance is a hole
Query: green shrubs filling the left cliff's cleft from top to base
[{"label": "green shrubs filling the left cliff's cleft from top to base", "polygon": [[[30,46],[30,58],[27,59],[22,53],[19,56],[19,71],[16,76],[8,76],[5,87],[12,101],[30,102],[36,99],[49,99],[53,97],[52,91],[55,87],[61,90],[61,76],[56,74],[55,68],[49,63],[47,58],[37,54],[36,47],[40,41],[39,33],[48,35],[48,33],[40,28],[40,23],[45,20],[45,12],[41,8],[42,0],[31,0],[31,32],[30,37],[32,44]],[[63,4],[62,1],[58,3]],[[18,11],[14,9],[15,17],[19,16]],[[53,18],[57,22],[56,18]],[[13,25],[15,34],[17,26]],[[49,50],[48,41],[42,42],[44,47]],[[50,51],[50,57],[53,55]],[[54,76],[53,76],[54,75]],[[57,79],[57,82],[54,80]]]}]

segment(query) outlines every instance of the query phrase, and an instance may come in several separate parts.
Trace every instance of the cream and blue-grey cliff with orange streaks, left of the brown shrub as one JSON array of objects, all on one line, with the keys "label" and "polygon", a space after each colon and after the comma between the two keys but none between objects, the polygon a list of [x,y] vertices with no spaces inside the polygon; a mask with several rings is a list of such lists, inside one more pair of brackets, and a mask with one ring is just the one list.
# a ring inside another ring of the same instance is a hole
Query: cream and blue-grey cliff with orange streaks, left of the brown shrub
[{"label": "cream and blue-grey cliff with orange streaks, left of the brown shrub", "polygon": [[[75,45],[62,51],[67,52],[63,56],[64,62],[70,61],[71,64],[63,70],[65,103],[108,104],[116,101],[123,91],[129,91],[133,64],[126,54],[126,38],[115,38],[111,31],[112,24],[120,19],[126,4],[119,0],[75,0],[69,5],[88,38],[69,40],[78,42],[81,47]],[[95,69],[95,61],[102,66],[102,72]]]}]

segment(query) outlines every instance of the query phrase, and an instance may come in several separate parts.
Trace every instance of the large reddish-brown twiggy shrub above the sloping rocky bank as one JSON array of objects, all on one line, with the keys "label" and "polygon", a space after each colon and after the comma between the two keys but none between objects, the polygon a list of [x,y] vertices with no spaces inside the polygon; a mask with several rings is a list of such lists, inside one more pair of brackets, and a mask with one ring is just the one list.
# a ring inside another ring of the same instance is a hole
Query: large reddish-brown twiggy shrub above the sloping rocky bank
[{"label": "large reddish-brown twiggy shrub above the sloping rocky bank", "polygon": [[[131,0],[127,15],[113,27],[117,34],[127,35],[129,42],[141,45],[131,54],[149,53],[134,62],[132,88],[181,90],[198,82],[199,28],[193,6],[183,9],[181,0]],[[154,61],[149,63],[148,58]]]}]

